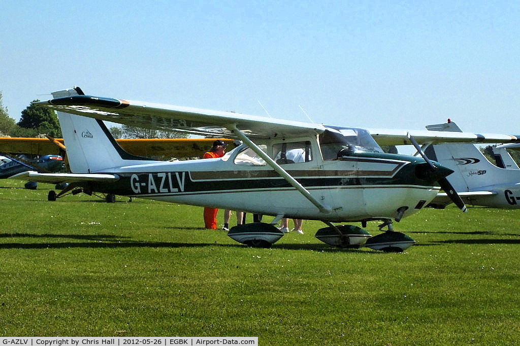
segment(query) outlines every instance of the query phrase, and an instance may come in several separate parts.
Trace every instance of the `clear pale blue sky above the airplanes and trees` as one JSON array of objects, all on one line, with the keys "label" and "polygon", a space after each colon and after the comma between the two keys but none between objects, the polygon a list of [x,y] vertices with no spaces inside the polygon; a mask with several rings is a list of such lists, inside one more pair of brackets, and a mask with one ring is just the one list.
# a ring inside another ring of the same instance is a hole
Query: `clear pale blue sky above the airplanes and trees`
[{"label": "clear pale blue sky above the airplanes and trees", "polygon": [[[517,1],[5,1],[9,115],[50,92],[520,134]],[[258,102],[259,101],[259,102]]]}]

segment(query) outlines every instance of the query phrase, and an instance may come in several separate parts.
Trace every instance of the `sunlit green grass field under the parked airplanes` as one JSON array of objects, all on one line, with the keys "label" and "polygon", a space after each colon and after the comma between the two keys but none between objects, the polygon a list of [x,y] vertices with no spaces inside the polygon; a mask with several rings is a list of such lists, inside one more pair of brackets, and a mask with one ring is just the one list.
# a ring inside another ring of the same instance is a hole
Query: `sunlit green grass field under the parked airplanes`
[{"label": "sunlit green grass field under the parked airplanes", "polygon": [[395,224],[417,241],[401,254],[330,248],[314,237],[324,227],[317,221],[257,249],[202,229],[200,207],[85,195],[47,202],[51,185],[22,186],[0,182],[0,336],[257,336],[261,345],[520,338],[520,210],[422,210]]}]

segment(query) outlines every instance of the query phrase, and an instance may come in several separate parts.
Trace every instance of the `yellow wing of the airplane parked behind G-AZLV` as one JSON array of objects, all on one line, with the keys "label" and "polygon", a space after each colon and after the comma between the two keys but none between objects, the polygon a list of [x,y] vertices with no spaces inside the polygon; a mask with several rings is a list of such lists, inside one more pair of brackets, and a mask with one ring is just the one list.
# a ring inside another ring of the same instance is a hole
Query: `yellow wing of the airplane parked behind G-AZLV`
[{"label": "yellow wing of the airplane parked behind G-AZLV", "polygon": [[[128,153],[139,156],[195,157],[208,151],[215,138],[116,139]],[[231,140],[223,139],[231,142]],[[58,143],[58,144],[57,144]],[[61,147],[60,145],[61,144]],[[60,155],[63,139],[0,137],[0,153]]]}]

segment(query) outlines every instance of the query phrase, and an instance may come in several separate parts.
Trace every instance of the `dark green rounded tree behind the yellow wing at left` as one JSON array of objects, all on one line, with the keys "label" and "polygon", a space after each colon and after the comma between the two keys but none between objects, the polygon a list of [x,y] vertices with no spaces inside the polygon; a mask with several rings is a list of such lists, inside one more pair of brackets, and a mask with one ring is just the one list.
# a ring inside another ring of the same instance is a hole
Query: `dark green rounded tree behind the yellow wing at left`
[{"label": "dark green rounded tree behind the yellow wing at left", "polygon": [[[36,102],[38,100],[34,100]],[[33,135],[46,134],[51,137],[61,137],[58,117],[54,111],[31,103],[22,111],[18,126],[32,129]]]}]

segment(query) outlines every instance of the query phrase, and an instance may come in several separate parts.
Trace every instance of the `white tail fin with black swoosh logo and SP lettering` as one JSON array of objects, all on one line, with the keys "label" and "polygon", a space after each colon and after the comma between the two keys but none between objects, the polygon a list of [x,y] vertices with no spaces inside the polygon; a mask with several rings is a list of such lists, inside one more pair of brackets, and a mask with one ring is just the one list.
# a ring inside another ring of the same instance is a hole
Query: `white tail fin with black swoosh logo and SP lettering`
[{"label": "white tail fin with black swoosh logo and SP lettering", "polygon": [[[429,125],[428,130],[459,132],[460,128],[452,122]],[[508,171],[488,161],[486,156],[471,143],[444,143],[430,145],[426,155],[454,172],[447,178],[457,192],[480,191],[492,184],[510,180]]]}]

